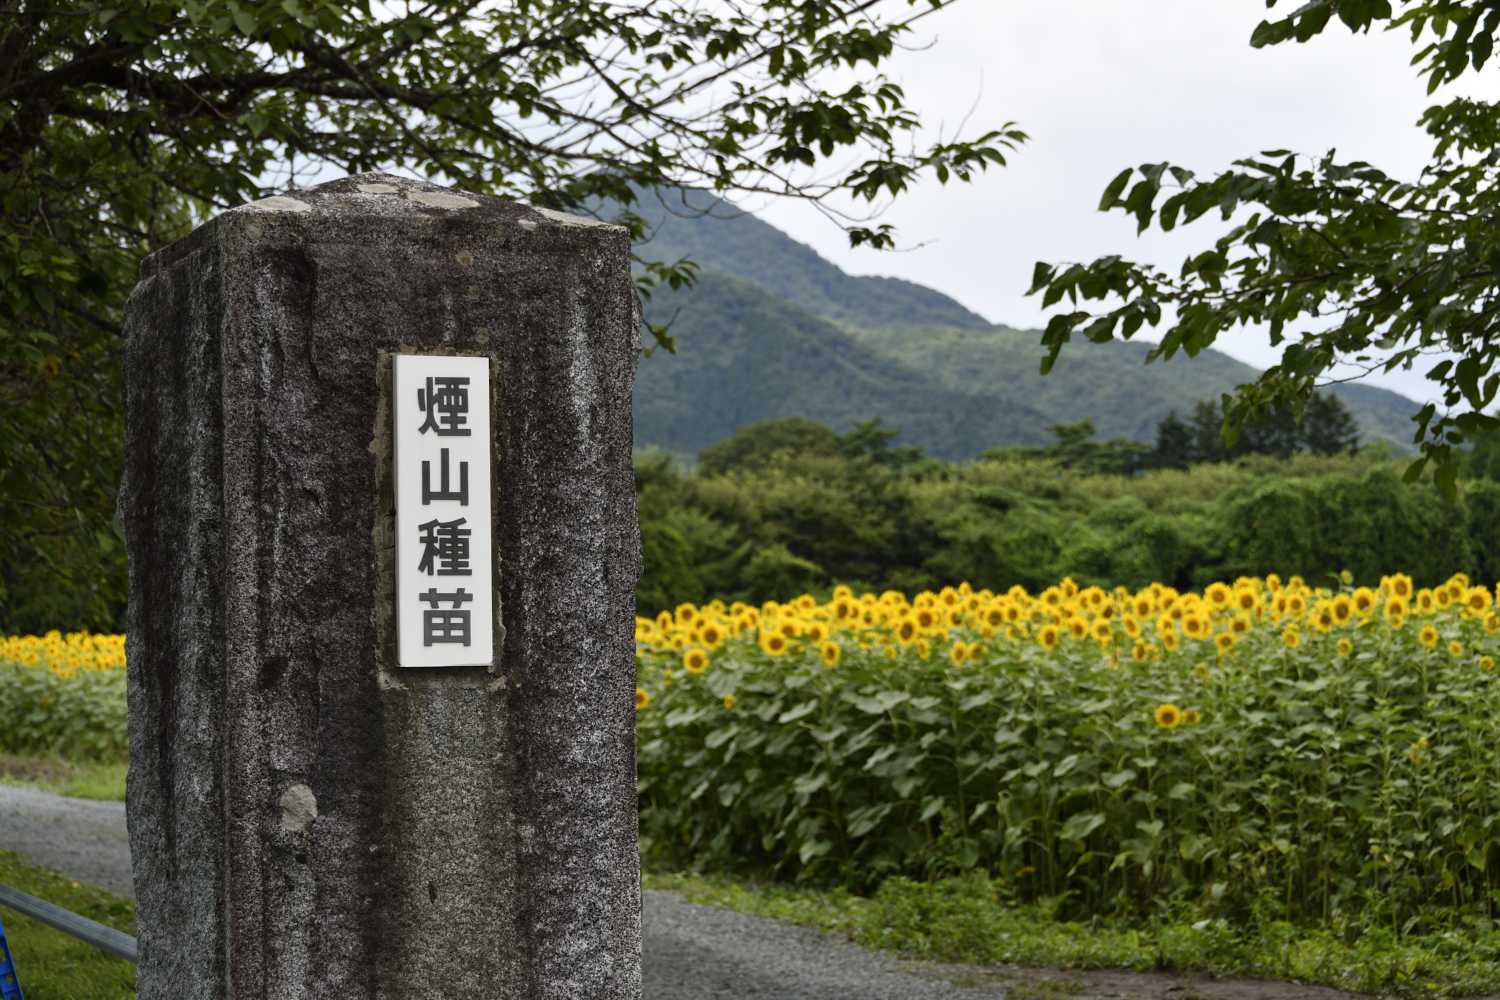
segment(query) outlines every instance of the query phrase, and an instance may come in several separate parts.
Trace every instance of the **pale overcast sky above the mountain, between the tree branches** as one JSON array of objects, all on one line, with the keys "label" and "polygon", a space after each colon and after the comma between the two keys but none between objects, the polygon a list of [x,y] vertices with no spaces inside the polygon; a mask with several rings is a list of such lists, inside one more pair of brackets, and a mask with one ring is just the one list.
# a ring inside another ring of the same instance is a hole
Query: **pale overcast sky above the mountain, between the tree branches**
[{"label": "pale overcast sky above the mountain, between the tree branches", "polygon": [[[1414,123],[1448,94],[1425,93],[1408,36],[1335,25],[1308,45],[1252,49],[1264,15],[1260,0],[964,0],[922,24],[930,45],[898,54],[891,75],[928,129],[951,132],[970,108],[970,133],[1017,121],[1032,141],[1010,166],[903,195],[884,216],[914,247],[902,253],[850,250],[808,205],[744,207],[852,273],[906,277],[994,322],[1038,327],[1046,313],[1024,295],[1035,261],[1124,253],[1174,268],[1216,235],[1216,213],[1137,238],[1132,220],[1096,211],[1125,166],[1172,160],[1212,174],[1260,150],[1334,147],[1414,177],[1430,151]],[[1218,346],[1262,367],[1274,360],[1254,333]],[[1431,397],[1420,372],[1377,384]]]}]

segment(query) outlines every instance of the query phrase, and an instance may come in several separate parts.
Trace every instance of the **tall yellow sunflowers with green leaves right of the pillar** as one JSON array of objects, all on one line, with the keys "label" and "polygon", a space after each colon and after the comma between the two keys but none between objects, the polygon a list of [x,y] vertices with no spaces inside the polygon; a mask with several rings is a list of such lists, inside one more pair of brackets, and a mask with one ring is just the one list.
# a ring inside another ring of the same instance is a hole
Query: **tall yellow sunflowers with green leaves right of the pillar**
[{"label": "tall yellow sunflowers with green leaves right of the pillar", "polygon": [[658,864],[1395,934],[1500,910],[1500,615],[1462,574],[840,588],[636,648]]}]

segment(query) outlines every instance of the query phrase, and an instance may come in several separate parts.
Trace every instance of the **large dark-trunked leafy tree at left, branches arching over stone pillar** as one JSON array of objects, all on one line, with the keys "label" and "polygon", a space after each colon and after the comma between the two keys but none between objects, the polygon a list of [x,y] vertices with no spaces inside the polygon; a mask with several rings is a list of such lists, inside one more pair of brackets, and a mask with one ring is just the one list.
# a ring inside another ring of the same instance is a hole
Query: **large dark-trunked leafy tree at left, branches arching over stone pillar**
[{"label": "large dark-trunked leafy tree at left, branches arching over stone pillar", "polygon": [[[219,208],[382,168],[615,204],[639,229],[630,205],[663,184],[873,205],[1024,139],[920,135],[882,73],[954,0],[0,1],[0,621],[16,627],[118,616],[120,313],[140,258]],[[894,241],[836,217],[856,244]],[[642,261],[644,294],[690,280],[687,261]]]}]

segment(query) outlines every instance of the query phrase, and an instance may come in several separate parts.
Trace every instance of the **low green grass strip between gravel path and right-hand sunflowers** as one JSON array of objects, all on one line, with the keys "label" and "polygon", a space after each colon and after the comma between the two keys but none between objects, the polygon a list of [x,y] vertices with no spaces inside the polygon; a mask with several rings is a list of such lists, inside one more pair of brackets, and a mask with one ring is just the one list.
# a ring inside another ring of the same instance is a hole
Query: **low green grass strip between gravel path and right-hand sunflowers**
[{"label": "low green grass strip between gravel path and right-hand sunflowers", "polygon": [[1149,924],[1059,921],[1047,906],[1010,904],[984,877],[891,879],[873,897],[760,885],[723,876],[651,873],[646,889],[844,934],[906,958],[972,966],[1126,969],[1286,979],[1432,1000],[1500,993],[1500,931],[1402,937],[1268,921],[1164,915]]}]

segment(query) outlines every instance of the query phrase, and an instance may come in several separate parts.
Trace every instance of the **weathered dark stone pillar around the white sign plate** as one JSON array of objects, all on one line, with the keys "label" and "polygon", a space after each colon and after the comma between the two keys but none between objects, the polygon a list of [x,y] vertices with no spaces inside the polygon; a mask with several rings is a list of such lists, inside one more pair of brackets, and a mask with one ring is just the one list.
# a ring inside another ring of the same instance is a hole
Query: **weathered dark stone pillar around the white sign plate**
[{"label": "weathered dark stone pillar around the white sign plate", "polygon": [[[636,343],[624,229],[382,174],[146,261],[141,1000],[640,996]],[[488,667],[398,666],[393,354],[489,358]]]}]

